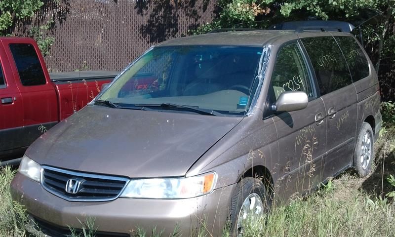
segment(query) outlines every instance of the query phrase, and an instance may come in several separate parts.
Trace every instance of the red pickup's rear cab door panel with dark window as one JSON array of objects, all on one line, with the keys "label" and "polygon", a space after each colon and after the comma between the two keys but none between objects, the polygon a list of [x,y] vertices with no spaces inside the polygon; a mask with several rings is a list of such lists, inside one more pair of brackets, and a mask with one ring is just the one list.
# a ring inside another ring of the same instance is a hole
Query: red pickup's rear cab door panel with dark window
[{"label": "red pickup's rear cab door panel with dark window", "polygon": [[37,44],[32,39],[3,41],[23,100],[24,145],[58,122],[58,102]]}]

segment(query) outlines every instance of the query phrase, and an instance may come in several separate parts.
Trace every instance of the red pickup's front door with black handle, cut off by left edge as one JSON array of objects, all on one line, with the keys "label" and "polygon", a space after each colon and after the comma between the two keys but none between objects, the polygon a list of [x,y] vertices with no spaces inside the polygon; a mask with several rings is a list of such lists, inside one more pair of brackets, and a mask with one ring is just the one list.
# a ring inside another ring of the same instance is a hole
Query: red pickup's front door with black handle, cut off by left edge
[{"label": "red pickup's front door with black handle, cut off by left edge", "polygon": [[22,99],[0,44],[0,159],[20,148],[23,129]]}]

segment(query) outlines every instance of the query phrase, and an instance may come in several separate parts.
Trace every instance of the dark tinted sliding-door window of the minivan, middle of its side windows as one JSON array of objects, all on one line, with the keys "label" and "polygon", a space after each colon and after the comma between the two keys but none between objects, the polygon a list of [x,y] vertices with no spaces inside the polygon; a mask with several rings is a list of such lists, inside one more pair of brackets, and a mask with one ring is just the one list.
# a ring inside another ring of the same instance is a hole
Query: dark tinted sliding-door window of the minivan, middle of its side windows
[{"label": "dark tinted sliding-door window of the minivan, middle of its side windows", "polygon": [[321,95],[353,83],[342,51],[333,37],[302,39],[313,64]]}]

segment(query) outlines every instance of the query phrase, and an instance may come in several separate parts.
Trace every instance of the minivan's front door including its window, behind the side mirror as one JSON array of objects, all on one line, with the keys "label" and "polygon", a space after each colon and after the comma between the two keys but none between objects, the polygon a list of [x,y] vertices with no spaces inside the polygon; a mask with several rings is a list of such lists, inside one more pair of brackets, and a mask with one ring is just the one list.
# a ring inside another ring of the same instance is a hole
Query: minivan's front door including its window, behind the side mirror
[{"label": "minivan's front door including its window, behind the side mirror", "polygon": [[275,112],[279,164],[282,166],[277,192],[279,197],[303,195],[322,181],[326,152],[325,107],[317,96],[315,83],[299,41],[283,45],[277,55],[271,78],[271,104],[284,91],[304,91],[307,108],[292,112]]}]

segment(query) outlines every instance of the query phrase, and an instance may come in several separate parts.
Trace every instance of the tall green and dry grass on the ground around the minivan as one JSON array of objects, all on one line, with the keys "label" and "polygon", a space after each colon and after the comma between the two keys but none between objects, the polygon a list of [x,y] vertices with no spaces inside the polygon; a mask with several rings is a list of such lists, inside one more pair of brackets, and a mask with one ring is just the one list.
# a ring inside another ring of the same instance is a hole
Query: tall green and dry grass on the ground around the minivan
[{"label": "tall green and dry grass on the ground around the minivan", "polygon": [[[287,206],[275,207],[269,215],[248,221],[244,236],[395,236],[395,201],[385,196],[394,190],[386,178],[395,174],[395,128],[383,132],[376,143],[375,166],[374,172],[368,177],[357,178],[352,171],[347,171],[309,197],[293,200]],[[20,228],[24,221],[23,208],[13,205],[9,194],[9,182],[14,172],[10,168],[0,172],[1,237],[25,235]],[[135,236],[143,237],[145,233],[161,236],[159,228],[154,231],[137,228]],[[196,236],[211,235],[201,228]]]}]

